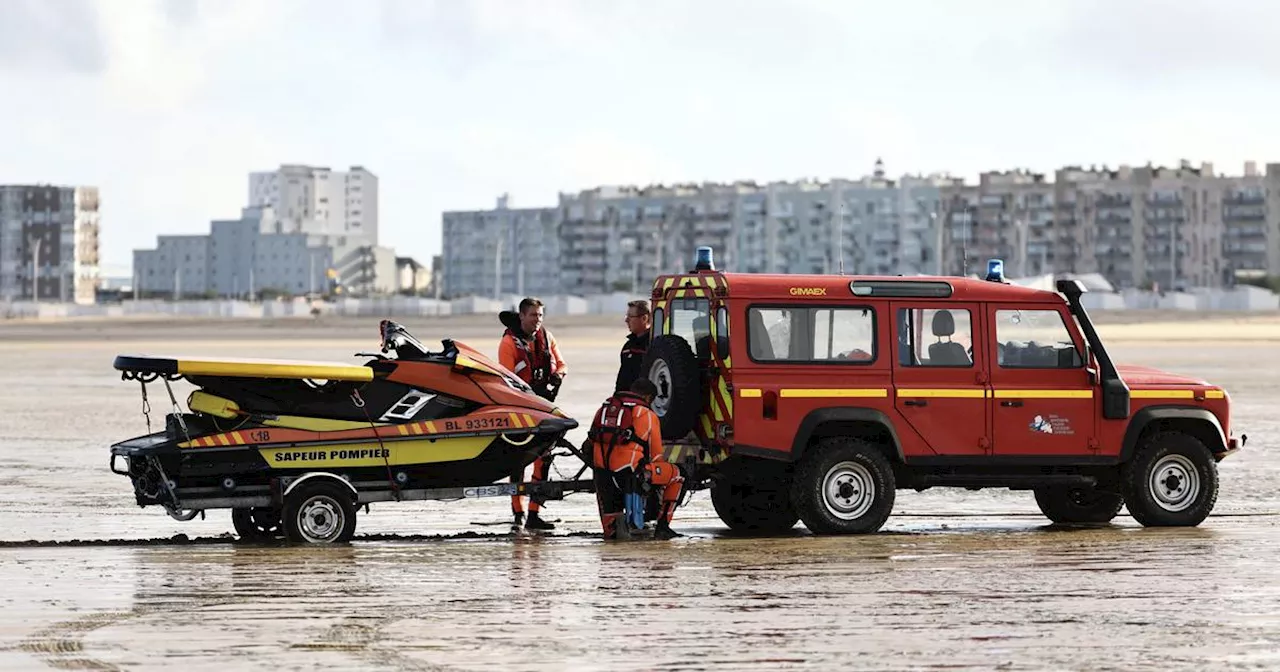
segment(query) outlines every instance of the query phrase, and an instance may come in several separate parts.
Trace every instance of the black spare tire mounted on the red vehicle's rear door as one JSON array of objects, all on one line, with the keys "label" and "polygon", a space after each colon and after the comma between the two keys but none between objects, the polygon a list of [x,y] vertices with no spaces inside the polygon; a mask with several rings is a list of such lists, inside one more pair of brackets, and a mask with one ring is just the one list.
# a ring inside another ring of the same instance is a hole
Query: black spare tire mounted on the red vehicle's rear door
[{"label": "black spare tire mounted on the red vehicle's rear door", "polygon": [[660,335],[649,343],[640,375],[658,385],[653,411],[658,413],[663,440],[682,439],[694,430],[707,401],[692,348],[678,335]]}]

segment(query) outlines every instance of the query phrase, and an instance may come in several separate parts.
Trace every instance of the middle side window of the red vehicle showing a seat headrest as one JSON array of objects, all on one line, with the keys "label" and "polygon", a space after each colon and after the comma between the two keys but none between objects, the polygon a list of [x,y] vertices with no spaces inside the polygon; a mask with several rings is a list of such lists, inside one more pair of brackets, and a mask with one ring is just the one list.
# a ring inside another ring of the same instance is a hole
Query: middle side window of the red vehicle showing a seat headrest
[{"label": "middle side window of the red vehicle showing a seat headrest", "polygon": [[899,308],[900,366],[973,367],[973,315],[966,308]]}]

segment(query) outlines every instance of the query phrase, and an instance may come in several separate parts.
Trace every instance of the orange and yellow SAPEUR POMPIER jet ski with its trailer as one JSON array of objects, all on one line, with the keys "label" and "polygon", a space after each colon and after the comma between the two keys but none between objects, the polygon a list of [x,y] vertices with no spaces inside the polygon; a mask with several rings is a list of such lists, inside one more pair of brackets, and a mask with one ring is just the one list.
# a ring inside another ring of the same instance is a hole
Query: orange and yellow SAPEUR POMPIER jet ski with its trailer
[{"label": "orange and yellow SAPEUR POMPIER jet ski with its trailer", "polygon": [[[554,498],[581,484],[495,484],[556,447],[576,454],[564,435],[577,421],[463,343],[430,352],[390,320],[380,334],[381,353],[362,365],[118,356],[143,407],[146,385],[160,381],[173,411],[163,431],[111,445],[111,470],[131,479],[138,506],[178,520],[230,508],[242,538],[308,543],[349,540],[356,507],[370,502],[534,488]],[[178,380],[196,388],[187,411]]]}]

